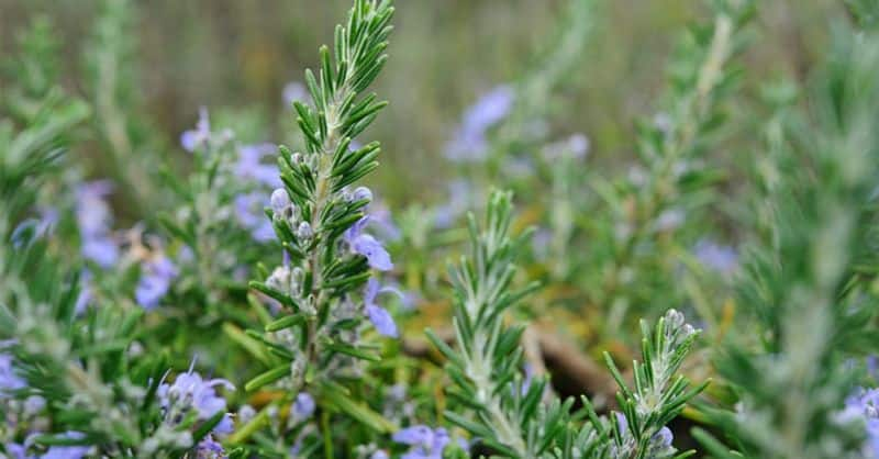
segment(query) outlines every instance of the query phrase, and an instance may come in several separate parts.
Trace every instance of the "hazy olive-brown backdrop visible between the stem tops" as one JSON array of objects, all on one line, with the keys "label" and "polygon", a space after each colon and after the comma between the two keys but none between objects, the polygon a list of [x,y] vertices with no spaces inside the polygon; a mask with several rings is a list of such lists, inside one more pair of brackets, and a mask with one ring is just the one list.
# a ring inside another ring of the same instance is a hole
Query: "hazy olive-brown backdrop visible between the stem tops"
[{"label": "hazy olive-brown backdrop visible between the stem tops", "polygon": [[[314,49],[332,40],[348,0],[151,0],[137,2],[132,81],[141,110],[165,139],[173,160],[199,107],[248,113],[265,138],[281,142],[291,111],[285,85],[302,79]],[[519,78],[549,42],[560,0],[403,0],[387,71],[376,91],[391,104],[371,127],[385,146],[383,167],[370,183],[394,205],[442,199],[456,173],[443,156],[460,113],[480,94]],[[634,120],[649,116],[661,92],[676,31],[704,13],[702,0],[603,2],[587,55],[559,89],[558,131],[586,133],[590,161],[608,167],[633,153]],[[842,2],[763,2],[756,43],[745,56],[749,81],[781,76],[802,81],[825,48]],[[14,52],[16,31],[44,14],[58,29],[69,89],[85,91],[84,44],[98,14],[89,0],[0,0],[0,54]],[[9,83],[9,81],[5,81]],[[2,88],[2,87],[0,87]],[[744,94],[756,91],[744,88]],[[739,136],[747,137],[743,126]],[[88,154],[86,155],[88,156]],[[86,165],[102,176],[101,161]]]}]

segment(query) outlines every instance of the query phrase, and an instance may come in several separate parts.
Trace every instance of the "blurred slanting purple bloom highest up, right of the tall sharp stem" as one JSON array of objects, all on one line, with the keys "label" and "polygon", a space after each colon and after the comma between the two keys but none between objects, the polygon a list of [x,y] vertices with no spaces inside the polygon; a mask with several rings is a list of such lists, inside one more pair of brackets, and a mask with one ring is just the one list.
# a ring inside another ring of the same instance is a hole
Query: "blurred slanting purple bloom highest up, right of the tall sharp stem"
[{"label": "blurred slanting purple bloom highest up, right of the tall sharp stem", "polygon": [[481,160],[488,149],[487,131],[503,120],[513,107],[515,93],[510,86],[499,86],[482,96],[465,113],[454,139],[446,146],[453,161]]}]

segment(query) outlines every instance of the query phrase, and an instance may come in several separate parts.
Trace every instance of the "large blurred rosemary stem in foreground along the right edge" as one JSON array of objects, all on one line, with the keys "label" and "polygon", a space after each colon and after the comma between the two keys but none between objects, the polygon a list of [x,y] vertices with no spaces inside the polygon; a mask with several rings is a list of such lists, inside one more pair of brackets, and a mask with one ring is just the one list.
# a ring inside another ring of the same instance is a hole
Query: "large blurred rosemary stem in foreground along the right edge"
[{"label": "large blurred rosemary stem in foreground along the right edge", "polygon": [[809,116],[789,119],[767,143],[772,170],[785,173],[763,176],[775,179],[763,197],[770,231],[738,282],[750,332],[734,334],[716,359],[737,403],[705,407],[723,435],[697,433],[715,457],[879,452],[876,402],[853,389],[858,372],[847,361],[879,347],[876,290],[859,273],[876,259],[877,65],[875,32],[837,29]]}]

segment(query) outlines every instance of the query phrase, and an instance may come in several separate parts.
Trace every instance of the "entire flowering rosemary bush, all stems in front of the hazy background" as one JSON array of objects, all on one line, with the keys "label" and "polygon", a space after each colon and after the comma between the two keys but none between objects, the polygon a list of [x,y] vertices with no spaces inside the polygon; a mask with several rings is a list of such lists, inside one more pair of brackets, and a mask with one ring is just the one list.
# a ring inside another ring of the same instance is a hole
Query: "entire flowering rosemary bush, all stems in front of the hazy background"
[{"label": "entire flowering rosemary bush, all stems in front of the hazy background", "polygon": [[[394,7],[352,1],[318,70],[285,88],[289,124],[204,108],[179,147],[138,96],[152,35],[134,30],[159,7],[98,2],[82,53],[54,25],[65,2],[15,33],[0,63],[0,459],[879,457],[877,0],[838,2],[808,81],[809,56],[735,97],[737,63],[763,61],[738,59],[749,31],[791,2],[711,1],[624,176],[601,157],[586,169],[608,146],[619,161],[620,139],[570,135],[592,126],[567,98],[616,11],[539,10],[558,11],[548,45],[445,145],[452,202],[396,222],[363,184]],[[390,139],[421,132],[419,96]]]}]

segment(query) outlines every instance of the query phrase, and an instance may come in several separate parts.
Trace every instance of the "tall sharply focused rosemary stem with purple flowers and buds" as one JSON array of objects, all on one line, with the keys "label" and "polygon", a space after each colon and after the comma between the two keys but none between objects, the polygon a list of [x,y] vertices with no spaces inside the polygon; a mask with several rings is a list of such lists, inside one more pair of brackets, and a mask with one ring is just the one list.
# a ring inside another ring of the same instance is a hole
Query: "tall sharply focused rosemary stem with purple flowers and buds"
[{"label": "tall sharply focused rosemary stem with purple flowers and buds", "polygon": [[380,358],[363,337],[364,318],[382,335],[398,334],[390,314],[377,304],[387,290],[372,271],[393,265],[365,232],[372,194],[353,188],[378,166],[380,148],[377,142],[352,147],[387,104],[363,93],[387,59],[392,14],[389,1],[355,1],[347,24],[336,27],[332,52],[321,48],[318,75],[305,72],[311,101],[293,103],[304,152],[280,147],[283,188],[271,193],[267,211],[283,264],[264,281],[251,282],[279,306],[265,333],[252,334],[275,363],[246,384],[254,391],[278,382],[287,390],[286,400],[313,395],[324,410],[344,412],[378,432],[393,425],[352,399],[340,381],[356,378],[359,361]]}]

